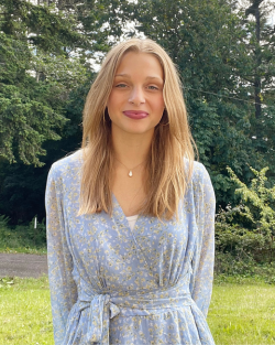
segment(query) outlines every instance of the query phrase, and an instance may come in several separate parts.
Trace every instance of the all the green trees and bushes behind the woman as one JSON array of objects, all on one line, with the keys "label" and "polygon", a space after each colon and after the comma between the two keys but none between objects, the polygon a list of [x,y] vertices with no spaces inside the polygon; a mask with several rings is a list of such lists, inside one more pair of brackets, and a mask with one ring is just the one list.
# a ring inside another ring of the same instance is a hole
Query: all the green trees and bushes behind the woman
[{"label": "all the green trees and bushes behind the woman", "polygon": [[217,195],[216,270],[271,274],[274,10],[270,0],[0,0],[0,250],[45,251],[51,164],[80,147],[95,63],[135,35],[158,42],[183,79]]}]

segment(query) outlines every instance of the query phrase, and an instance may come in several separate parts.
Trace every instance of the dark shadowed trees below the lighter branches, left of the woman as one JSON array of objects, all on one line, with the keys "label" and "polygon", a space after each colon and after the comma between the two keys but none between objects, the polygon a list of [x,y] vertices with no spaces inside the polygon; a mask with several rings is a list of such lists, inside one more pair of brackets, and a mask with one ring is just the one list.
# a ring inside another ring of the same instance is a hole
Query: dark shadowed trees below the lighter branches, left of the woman
[{"label": "dark shadowed trees below the lighter branches, left of the woman", "polygon": [[0,159],[0,215],[9,216],[11,224],[29,223],[35,215],[45,217],[45,186],[53,162],[76,151],[81,144],[81,111],[95,74],[69,94],[64,116],[69,119],[61,129],[61,140],[43,143],[47,154],[41,158],[43,166],[26,165],[22,161],[10,164]]}]

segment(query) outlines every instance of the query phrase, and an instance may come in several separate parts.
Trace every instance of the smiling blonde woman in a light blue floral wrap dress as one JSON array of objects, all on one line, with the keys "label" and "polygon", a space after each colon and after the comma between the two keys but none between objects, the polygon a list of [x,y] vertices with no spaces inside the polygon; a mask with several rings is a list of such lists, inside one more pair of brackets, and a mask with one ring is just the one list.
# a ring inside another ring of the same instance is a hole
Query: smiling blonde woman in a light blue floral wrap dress
[{"label": "smiling blonde woman in a light blue floral wrap dress", "polygon": [[56,345],[213,344],[215,194],[155,42],[107,55],[82,149],[53,164],[46,211]]}]

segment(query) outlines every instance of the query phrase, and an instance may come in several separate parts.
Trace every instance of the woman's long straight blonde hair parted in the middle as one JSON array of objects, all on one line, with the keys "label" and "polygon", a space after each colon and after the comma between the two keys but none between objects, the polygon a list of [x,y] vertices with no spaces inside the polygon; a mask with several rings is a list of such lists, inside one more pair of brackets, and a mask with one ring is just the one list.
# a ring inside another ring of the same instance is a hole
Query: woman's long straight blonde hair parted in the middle
[{"label": "woman's long straight blonde hair parted in the middle", "polygon": [[[121,58],[130,51],[152,54],[164,72],[165,110],[154,130],[146,163],[147,197],[140,212],[170,219],[174,215],[178,217],[178,204],[191,175],[196,145],[189,130],[182,84],[175,65],[157,43],[140,39],[131,39],[111,48],[87,96],[82,121],[84,166],[79,214],[101,211],[110,215],[112,213],[110,171],[113,151],[107,101]],[[189,164],[184,160],[188,160]]]}]

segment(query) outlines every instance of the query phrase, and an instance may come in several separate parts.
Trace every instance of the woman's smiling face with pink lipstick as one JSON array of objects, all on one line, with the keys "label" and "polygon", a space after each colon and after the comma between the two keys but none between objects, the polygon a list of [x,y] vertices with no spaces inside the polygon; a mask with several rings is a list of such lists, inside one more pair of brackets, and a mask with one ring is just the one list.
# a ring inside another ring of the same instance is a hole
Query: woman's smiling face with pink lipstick
[{"label": "woman's smiling face with pink lipstick", "polygon": [[164,111],[163,85],[163,68],[155,56],[127,53],[116,72],[107,104],[112,131],[153,132]]}]

